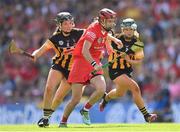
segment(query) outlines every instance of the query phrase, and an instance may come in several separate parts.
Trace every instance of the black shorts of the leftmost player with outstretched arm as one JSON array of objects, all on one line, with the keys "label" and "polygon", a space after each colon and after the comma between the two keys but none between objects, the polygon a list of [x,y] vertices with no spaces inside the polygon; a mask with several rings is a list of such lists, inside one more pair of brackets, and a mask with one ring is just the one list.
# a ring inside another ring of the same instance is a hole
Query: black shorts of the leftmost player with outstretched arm
[{"label": "black shorts of the leftmost player with outstretched arm", "polygon": [[66,79],[68,79],[69,72],[70,72],[69,70],[67,70],[67,69],[65,69],[65,68],[63,68],[63,67],[61,67],[60,65],[57,65],[57,64],[52,64],[51,68],[54,69],[54,70],[60,71],[64,75],[64,77]]}]

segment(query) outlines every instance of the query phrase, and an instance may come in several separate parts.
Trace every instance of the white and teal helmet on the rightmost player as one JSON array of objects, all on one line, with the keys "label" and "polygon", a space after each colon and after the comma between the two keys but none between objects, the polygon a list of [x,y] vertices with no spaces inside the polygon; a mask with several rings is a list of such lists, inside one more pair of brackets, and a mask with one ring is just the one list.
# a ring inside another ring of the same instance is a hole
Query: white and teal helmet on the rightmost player
[{"label": "white and teal helmet on the rightmost player", "polygon": [[127,18],[122,21],[121,28],[130,27],[134,30],[137,29],[137,24],[135,23],[134,19]]}]

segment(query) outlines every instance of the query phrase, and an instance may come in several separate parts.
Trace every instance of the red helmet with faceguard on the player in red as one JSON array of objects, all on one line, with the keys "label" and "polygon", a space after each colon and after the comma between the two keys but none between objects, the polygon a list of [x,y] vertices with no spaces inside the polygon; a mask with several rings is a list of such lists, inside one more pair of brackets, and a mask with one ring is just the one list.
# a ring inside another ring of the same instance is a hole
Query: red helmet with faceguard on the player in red
[{"label": "red helmet with faceguard on the player in red", "polygon": [[[99,22],[102,25],[102,27],[110,31],[116,24],[115,24],[115,19],[116,19],[116,13],[108,8],[103,8],[99,11]],[[107,22],[107,19],[114,19],[114,23],[109,24]]]}]

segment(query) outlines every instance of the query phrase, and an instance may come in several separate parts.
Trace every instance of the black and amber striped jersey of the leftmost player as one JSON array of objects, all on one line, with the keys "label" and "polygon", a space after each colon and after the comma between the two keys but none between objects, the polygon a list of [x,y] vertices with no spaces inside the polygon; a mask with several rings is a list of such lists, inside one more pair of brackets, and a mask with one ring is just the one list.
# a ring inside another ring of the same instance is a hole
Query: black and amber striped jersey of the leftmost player
[{"label": "black and amber striped jersey of the leftmost player", "polygon": [[69,72],[73,62],[72,51],[75,48],[76,42],[83,34],[83,31],[82,29],[73,28],[70,35],[64,36],[63,32],[58,30],[49,39],[56,52],[56,55],[53,57],[52,68],[64,72],[66,78],[68,78],[66,72]]}]

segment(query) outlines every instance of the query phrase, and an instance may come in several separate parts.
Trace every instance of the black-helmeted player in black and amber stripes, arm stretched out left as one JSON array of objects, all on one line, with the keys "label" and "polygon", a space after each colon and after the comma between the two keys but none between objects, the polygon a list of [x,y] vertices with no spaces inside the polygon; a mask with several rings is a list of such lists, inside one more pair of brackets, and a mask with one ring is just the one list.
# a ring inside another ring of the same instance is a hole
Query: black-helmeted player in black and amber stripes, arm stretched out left
[{"label": "black-helmeted player in black and amber stripes, arm stretched out left", "polygon": [[[70,91],[70,84],[66,80],[73,62],[72,51],[84,32],[83,29],[74,28],[74,18],[69,12],[60,12],[55,21],[57,28],[54,34],[32,53],[34,61],[50,49],[56,53],[52,58],[53,63],[44,91],[43,117],[38,121],[40,127],[49,125],[50,116]],[[56,86],[58,89],[54,95]]]}]

